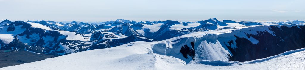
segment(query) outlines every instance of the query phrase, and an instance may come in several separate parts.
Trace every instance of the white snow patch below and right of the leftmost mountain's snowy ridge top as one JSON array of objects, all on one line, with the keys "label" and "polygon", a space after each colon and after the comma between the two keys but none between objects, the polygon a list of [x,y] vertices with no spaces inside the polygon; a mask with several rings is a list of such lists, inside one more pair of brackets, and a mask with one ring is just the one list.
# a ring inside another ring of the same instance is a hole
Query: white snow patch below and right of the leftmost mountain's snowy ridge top
[{"label": "white snow patch below and right of the leftmost mountain's snowy ridge top", "polygon": [[58,31],[60,34],[63,34],[65,36],[68,36],[67,40],[81,40],[81,41],[90,41],[90,37],[85,37],[82,34],[76,33],[76,32],[69,32],[60,30]]}]

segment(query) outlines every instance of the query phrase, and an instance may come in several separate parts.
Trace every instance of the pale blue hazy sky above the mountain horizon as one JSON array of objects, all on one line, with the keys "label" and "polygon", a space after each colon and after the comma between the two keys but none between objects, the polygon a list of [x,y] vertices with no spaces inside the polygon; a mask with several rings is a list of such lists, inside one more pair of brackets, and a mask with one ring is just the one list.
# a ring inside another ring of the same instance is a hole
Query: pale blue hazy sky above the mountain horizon
[{"label": "pale blue hazy sky above the mountain horizon", "polygon": [[305,20],[305,0],[0,0],[0,21]]}]

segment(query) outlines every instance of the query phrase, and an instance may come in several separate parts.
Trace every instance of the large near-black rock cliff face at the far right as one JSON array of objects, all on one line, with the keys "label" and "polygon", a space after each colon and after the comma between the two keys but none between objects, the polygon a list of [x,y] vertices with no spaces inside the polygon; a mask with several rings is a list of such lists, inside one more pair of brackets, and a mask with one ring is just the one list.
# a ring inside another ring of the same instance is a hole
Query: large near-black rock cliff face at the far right
[{"label": "large near-black rock cliff face at the far right", "polygon": [[247,37],[258,40],[258,44],[252,44],[246,38],[235,36],[237,48],[231,48],[233,40],[228,41],[230,46],[227,46],[233,54],[231,61],[250,61],[304,48],[305,26],[299,27],[270,26],[269,30],[273,31],[275,36],[268,32],[259,32],[257,35],[247,34]]}]

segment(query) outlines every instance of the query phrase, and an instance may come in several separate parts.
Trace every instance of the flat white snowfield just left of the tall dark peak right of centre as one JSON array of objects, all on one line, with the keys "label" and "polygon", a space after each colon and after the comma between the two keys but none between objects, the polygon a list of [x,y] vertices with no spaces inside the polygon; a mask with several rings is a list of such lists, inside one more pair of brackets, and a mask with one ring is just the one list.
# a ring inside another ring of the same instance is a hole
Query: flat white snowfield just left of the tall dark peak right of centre
[{"label": "flat white snowfield just left of the tall dark peak right of centre", "polygon": [[183,23],[180,23],[180,24],[175,24],[173,26],[170,27],[170,30],[181,30],[181,29],[184,29],[184,28],[189,28],[189,27],[196,27],[196,26],[199,26],[200,23],[188,23],[187,26],[184,26]]}]

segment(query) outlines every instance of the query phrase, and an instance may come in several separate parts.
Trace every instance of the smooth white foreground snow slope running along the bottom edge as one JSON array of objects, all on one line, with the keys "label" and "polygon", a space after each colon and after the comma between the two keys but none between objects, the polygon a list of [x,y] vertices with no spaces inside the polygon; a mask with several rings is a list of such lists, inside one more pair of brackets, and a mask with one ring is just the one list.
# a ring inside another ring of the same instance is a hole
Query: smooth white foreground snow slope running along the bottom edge
[{"label": "smooth white foreground snow slope running along the bottom edge", "polygon": [[83,51],[22,65],[0,68],[2,70],[245,70],[245,69],[305,69],[305,48],[286,51],[275,56],[253,61],[204,60],[186,65],[184,61],[166,55],[154,54],[147,42],[133,42],[106,48]]}]

